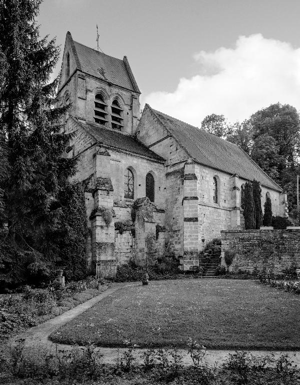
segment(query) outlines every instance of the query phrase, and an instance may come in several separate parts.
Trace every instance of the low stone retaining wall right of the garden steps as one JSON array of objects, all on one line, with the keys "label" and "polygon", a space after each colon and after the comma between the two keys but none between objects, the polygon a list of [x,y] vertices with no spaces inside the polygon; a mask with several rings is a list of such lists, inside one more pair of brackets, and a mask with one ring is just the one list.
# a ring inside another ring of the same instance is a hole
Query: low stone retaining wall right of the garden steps
[{"label": "low stone retaining wall right of the garden steps", "polygon": [[221,231],[221,264],[226,266],[224,252],[230,249],[235,258],[229,270],[252,272],[271,270],[275,274],[296,263],[300,268],[300,230]]}]

